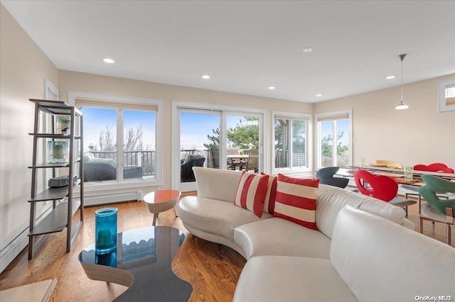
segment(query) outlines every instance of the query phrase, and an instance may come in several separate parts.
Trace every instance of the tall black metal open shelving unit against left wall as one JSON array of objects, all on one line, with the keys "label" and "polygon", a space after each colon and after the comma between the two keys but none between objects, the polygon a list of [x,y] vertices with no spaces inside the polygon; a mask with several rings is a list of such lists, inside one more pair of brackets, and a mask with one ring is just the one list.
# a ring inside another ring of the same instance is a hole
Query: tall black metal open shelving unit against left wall
[{"label": "tall black metal open shelving unit against left wall", "polygon": [[[30,99],[35,104],[35,124],[33,133],[33,163],[30,168],[32,170],[31,181],[31,198],[30,203],[30,231],[28,233],[28,259],[32,259],[34,249],[43,244],[46,237],[36,242],[36,236],[56,233],[67,229],[66,235],[66,252],[70,252],[71,245],[77,233],[79,233],[82,224],[84,223],[84,167],[82,164],[83,156],[83,118],[82,113],[74,106],[69,106],[63,101],[48,101]],[[41,113],[49,114],[52,117],[51,133],[40,133],[40,117]],[[70,116],[70,134],[55,133],[55,116]],[[77,120],[77,121],[76,121]],[[49,164],[47,162],[38,163],[38,140],[67,140],[69,142],[69,160],[65,164]],[[79,155],[76,156],[75,153]],[[77,172],[76,165],[79,165]],[[53,177],[55,177],[55,169],[68,168],[70,176],[68,186],[59,188],[48,188],[38,192],[38,171],[40,169],[53,169]],[[73,177],[77,175],[77,181],[73,181]],[[76,186],[80,188],[80,202],[75,203],[73,200],[73,190]],[[58,203],[57,201],[63,198],[68,198],[68,202]],[[53,210],[40,223],[36,223],[36,203],[43,201],[53,201]],[[80,220],[77,223],[72,223],[72,218],[75,212],[79,209]]]}]

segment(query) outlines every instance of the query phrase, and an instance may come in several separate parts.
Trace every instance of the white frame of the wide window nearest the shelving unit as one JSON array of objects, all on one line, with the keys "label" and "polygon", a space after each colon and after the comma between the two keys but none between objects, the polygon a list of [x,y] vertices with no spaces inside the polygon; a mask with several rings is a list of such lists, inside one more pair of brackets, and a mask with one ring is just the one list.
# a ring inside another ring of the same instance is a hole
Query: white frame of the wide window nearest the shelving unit
[{"label": "white frame of the wide window nearest the shelving unit", "polygon": [[[128,179],[125,181],[124,179],[119,179],[119,173],[117,173],[116,181],[102,181],[100,183],[86,182],[84,184],[85,191],[104,191],[110,189],[129,189],[143,186],[161,186],[163,184],[163,101],[159,99],[144,99],[134,96],[116,96],[83,91],[68,91],[68,104],[70,106],[76,106],[77,99],[92,99],[97,102],[105,102],[107,105],[112,104],[112,108],[117,110],[117,142],[123,142],[123,129],[119,129],[119,123],[123,125],[123,116],[119,111],[123,111],[123,109],[118,108],[119,106],[122,107],[123,104],[127,107],[127,110],[144,110],[143,108],[146,106],[156,108],[156,110],[151,110],[156,112],[155,178]],[[138,106],[138,109],[134,109],[135,105]],[[94,107],[96,107],[96,104]],[[119,152],[119,150],[117,150],[117,152]]]}]

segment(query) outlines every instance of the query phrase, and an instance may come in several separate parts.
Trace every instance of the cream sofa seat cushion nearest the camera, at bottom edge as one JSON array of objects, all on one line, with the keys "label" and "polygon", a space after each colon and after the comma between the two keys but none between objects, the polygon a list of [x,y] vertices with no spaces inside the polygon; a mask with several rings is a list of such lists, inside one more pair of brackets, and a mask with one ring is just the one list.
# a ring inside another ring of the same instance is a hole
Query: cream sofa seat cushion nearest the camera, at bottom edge
[{"label": "cream sofa seat cushion nearest the camera, at bottom edge", "polygon": [[240,274],[233,301],[358,301],[328,259],[253,257]]}]

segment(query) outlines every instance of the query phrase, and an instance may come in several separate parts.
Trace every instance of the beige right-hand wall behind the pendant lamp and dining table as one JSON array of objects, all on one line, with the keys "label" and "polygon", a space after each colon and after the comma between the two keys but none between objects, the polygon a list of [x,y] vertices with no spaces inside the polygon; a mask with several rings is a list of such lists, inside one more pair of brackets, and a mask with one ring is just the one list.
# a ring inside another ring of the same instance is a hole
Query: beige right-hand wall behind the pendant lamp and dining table
[{"label": "beige right-hand wall behind the pendant lamp and dining table", "polygon": [[353,163],[360,158],[405,165],[444,162],[455,167],[455,111],[439,112],[438,82],[455,74],[315,104],[314,113],[353,109]]}]

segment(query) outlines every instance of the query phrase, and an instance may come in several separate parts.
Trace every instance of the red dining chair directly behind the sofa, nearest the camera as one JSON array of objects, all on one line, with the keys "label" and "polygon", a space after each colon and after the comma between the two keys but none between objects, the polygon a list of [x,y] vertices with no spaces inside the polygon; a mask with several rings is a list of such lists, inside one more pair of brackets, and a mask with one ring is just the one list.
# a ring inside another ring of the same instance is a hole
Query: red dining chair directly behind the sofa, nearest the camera
[{"label": "red dining chair directly behind the sofa, nearest the camera", "polygon": [[365,170],[358,170],[354,174],[355,184],[361,194],[378,198],[382,201],[405,208],[407,216],[407,206],[417,203],[397,197],[398,184],[397,181],[385,175],[371,174]]}]

